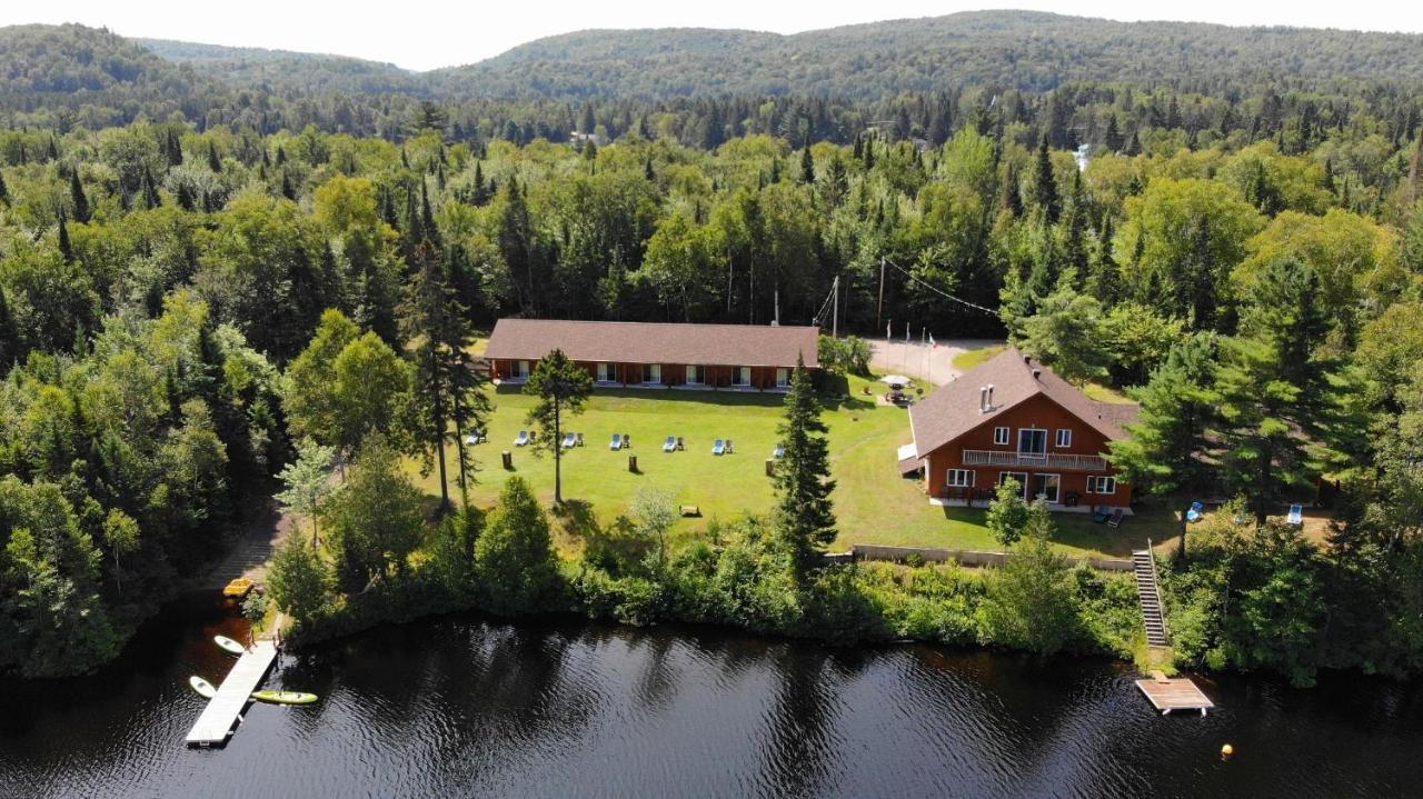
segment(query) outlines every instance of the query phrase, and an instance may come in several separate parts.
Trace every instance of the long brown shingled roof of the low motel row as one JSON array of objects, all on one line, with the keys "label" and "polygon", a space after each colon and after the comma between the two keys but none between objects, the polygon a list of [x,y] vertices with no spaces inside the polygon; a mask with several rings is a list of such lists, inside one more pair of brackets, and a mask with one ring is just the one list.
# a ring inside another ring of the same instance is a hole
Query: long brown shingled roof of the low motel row
[{"label": "long brown shingled roof of the low motel row", "polygon": [[536,360],[558,348],[575,361],[794,367],[804,357],[818,367],[818,338],[815,327],[501,318],[484,357]]}]

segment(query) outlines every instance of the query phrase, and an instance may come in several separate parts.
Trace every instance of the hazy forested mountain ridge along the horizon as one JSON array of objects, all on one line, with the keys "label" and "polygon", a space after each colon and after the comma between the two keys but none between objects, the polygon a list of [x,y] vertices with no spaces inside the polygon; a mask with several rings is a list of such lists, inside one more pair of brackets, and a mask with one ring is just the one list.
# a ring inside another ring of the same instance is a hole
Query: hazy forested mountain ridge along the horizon
[{"label": "hazy forested mountain ridge along the horizon", "polygon": [[83,26],[0,28],[0,94],[165,81],[451,101],[731,94],[864,101],[965,85],[1036,92],[1073,81],[1288,91],[1365,81],[1423,84],[1423,36],[969,11],[793,36],[586,30],[474,64],[411,73],[344,55],[124,38]]}]

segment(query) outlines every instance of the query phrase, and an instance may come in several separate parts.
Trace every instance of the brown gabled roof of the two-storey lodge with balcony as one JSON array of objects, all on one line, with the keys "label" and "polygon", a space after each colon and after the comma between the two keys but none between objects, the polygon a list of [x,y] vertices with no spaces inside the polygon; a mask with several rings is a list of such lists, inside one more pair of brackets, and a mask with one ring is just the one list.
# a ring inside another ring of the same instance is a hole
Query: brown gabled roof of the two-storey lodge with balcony
[{"label": "brown gabled roof of the two-storey lodge with balcony", "polygon": [[[979,409],[979,388],[985,385],[993,387],[993,409],[988,412]],[[919,455],[925,456],[963,434],[990,424],[993,418],[1033,397],[1046,397],[1062,405],[1107,441],[1126,438],[1123,425],[1137,417],[1136,405],[1096,402],[1053,370],[1030,360],[1016,347],[1009,347],[909,408],[909,424]]]}]

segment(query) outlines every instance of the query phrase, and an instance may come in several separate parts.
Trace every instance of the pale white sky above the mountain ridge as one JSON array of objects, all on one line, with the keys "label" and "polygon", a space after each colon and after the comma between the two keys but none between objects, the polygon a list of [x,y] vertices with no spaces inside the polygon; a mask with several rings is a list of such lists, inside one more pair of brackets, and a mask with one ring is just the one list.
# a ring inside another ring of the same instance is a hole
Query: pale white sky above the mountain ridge
[{"label": "pale white sky above the mountain ridge", "polygon": [[[203,14],[199,9],[221,9]],[[64,0],[0,3],[0,26],[83,23],[129,37],[336,53],[408,70],[470,64],[545,36],[586,28],[721,27],[798,33],[979,9],[1033,9],[1114,20],[1286,24],[1423,33],[1417,0]]]}]

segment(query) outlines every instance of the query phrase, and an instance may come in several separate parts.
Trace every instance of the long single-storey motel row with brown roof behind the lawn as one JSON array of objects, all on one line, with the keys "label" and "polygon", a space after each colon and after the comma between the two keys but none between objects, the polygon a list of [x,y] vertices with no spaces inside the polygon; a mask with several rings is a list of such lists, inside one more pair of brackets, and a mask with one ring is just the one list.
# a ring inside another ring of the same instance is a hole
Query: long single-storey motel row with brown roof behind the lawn
[{"label": "long single-storey motel row with brown roof behind the lawn", "polygon": [[562,350],[598,387],[787,391],[797,358],[820,367],[818,337],[815,327],[501,318],[484,357],[509,384]]}]

